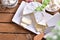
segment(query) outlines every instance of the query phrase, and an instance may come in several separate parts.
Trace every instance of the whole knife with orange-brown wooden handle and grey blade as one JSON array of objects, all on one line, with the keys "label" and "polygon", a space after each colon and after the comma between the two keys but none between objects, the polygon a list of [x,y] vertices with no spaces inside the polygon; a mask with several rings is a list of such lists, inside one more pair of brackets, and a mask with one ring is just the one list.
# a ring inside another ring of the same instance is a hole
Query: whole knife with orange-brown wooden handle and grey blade
[{"label": "whole knife with orange-brown wooden handle and grey blade", "polygon": [[34,37],[34,40],[42,40],[44,35],[46,35],[47,33],[51,32],[54,27],[55,26],[48,27],[44,32],[41,32],[40,34],[36,35]]}]

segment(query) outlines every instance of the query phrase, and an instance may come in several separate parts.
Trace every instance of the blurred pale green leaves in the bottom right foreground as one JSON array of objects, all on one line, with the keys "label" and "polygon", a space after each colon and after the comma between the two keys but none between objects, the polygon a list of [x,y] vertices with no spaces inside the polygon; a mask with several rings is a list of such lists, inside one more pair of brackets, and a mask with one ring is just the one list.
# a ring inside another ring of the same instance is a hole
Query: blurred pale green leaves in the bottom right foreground
[{"label": "blurred pale green leaves in the bottom right foreground", "polygon": [[50,37],[50,35],[48,35],[46,37],[47,40],[60,40],[60,21],[57,22],[57,26],[56,28],[54,28],[51,33],[53,33],[53,36]]}]

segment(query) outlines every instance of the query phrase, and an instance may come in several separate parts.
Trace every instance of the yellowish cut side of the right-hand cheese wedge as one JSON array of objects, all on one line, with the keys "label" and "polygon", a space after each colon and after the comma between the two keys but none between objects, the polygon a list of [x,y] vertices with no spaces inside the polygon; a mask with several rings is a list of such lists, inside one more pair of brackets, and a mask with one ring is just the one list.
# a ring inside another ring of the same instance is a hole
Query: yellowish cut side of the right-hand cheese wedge
[{"label": "yellowish cut side of the right-hand cheese wedge", "polygon": [[30,17],[31,17],[31,20],[32,20],[32,23],[33,23],[33,26],[35,27],[36,31],[37,32],[44,32],[44,30],[46,29],[46,25],[42,25],[42,24],[38,24],[36,22],[36,19],[34,17],[34,14],[30,14]]}]

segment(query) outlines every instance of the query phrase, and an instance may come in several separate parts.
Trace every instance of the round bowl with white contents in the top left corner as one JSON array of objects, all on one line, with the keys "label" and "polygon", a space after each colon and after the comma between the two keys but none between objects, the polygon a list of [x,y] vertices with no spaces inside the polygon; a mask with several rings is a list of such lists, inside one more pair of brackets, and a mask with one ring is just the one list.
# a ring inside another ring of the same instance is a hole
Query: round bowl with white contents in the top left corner
[{"label": "round bowl with white contents in the top left corner", "polygon": [[8,7],[8,8],[13,8],[17,5],[18,3],[18,0],[1,0],[1,4],[4,6],[4,7]]}]

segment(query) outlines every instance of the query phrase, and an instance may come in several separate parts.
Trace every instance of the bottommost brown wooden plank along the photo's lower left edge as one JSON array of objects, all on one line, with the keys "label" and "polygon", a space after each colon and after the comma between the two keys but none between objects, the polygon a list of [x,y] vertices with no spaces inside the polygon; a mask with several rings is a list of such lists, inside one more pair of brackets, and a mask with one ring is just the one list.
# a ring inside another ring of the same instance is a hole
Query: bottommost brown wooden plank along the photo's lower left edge
[{"label": "bottommost brown wooden plank along the photo's lower left edge", "polygon": [[0,34],[0,40],[32,40],[30,34]]}]

